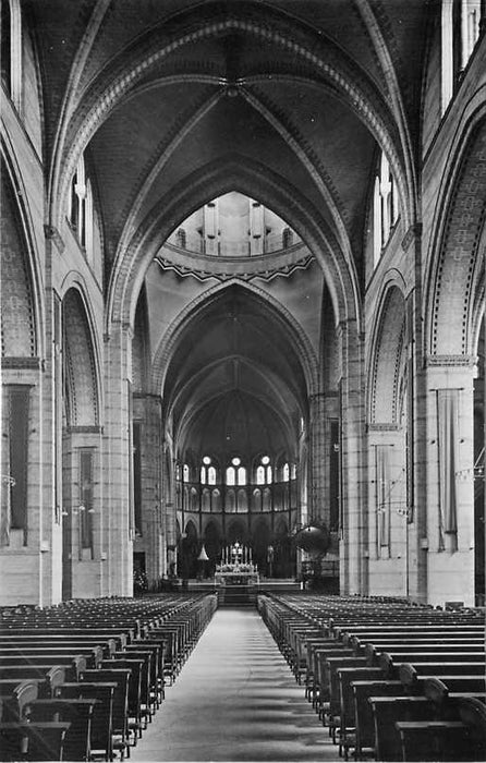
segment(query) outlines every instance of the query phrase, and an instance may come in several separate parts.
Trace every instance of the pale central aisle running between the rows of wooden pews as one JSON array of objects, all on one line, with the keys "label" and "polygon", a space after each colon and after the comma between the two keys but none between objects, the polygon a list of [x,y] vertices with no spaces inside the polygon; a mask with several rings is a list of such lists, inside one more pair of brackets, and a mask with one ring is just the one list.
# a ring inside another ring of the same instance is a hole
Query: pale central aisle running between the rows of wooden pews
[{"label": "pale central aisle running between the rows of wooden pews", "polygon": [[253,609],[216,611],[131,759],[339,760]]}]

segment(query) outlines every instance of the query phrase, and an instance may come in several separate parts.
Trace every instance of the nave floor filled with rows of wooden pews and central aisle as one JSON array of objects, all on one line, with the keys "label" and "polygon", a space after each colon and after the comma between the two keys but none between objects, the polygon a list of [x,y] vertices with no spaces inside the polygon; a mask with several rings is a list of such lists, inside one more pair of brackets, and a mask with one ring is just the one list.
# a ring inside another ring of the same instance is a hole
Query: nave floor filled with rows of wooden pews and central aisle
[{"label": "nave floor filled with rows of wooden pews and central aisle", "polygon": [[483,608],[220,604],[0,609],[0,760],[485,760]]}]

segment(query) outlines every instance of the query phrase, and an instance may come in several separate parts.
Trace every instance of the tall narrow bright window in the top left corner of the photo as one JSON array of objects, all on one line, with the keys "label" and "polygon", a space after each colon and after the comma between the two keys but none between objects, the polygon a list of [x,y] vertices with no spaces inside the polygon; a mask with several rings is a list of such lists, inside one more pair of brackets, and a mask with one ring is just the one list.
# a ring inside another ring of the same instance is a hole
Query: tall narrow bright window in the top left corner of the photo
[{"label": "tall narrow bright window in the top left corner of the photo", "polygon": [[22,15],[19,0],[1,2],[1,77],[15,108],[22,96]]}]

